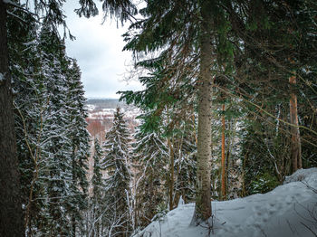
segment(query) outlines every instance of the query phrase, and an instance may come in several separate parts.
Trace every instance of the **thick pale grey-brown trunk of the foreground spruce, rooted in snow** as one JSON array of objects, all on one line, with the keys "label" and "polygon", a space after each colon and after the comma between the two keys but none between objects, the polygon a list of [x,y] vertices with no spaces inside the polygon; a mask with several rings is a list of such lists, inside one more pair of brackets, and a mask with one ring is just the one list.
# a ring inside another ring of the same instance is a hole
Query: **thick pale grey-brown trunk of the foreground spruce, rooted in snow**
[{"label": "thick pale grey-brown trunk of the foreground spruce, rooted in snow", "polygon": [[197,193],[192,225],[207,222],[211,216],[210,163],[212,116],[212,63],[210,2],[201,1],[200,71],[198,77],[198,144],[197,144]]}]

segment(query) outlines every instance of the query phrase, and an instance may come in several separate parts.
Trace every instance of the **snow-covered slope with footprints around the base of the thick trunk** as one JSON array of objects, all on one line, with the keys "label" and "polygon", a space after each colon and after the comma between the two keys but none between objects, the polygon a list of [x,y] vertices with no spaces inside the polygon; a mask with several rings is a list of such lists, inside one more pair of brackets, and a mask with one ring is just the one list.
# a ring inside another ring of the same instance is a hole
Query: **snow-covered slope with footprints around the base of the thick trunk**
[{"label": "snow-covered slope with footprints around the base of the thick trunk", "polygon": [[178,204],[135,237],[317,236],[317,168],[298,170],[267,194],[212,202],[212,229],[189,226],[194,207]]}]

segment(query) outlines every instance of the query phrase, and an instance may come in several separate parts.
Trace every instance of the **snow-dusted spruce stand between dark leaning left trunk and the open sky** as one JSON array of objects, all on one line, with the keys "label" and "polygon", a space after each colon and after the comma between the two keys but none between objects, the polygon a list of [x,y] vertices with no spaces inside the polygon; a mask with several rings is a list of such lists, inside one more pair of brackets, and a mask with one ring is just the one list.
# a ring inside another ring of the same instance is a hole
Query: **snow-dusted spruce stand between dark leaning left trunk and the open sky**
[{"label": "snow-dusted spruce stand between dark leaning left trunk and the open sky", "polygon": [[72,236],[82,232],[87,207],[89,134],[81,74],[59,36],[45,26],[38,34],[35,25],[23,38],[29,43],[10,44],[25,227],[28,236],[35,230]]}]

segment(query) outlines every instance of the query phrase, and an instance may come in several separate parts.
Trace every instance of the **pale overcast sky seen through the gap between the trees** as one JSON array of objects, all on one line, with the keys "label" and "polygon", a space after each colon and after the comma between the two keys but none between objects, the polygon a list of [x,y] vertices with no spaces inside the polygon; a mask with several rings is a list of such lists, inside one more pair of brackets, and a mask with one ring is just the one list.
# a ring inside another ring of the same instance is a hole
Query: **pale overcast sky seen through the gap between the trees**
[{"label": "pale overcast sky seen through the gap between the trees", "polygon": [[[99,3],[98,3],[99,4]],[[128,25],[117,28],[115,20],[102,23],[98,16],[86,19],[73,12],[78,1],[67,1],[64,11],[66,22],[76,40],[66,41],[68,56],[77,59],[82,70],[82,82],[88,98],[119,98],[118,90],[140,90],[138,81],[123,81],[131,65],[130,52],[122,52],[121,35]]]}]

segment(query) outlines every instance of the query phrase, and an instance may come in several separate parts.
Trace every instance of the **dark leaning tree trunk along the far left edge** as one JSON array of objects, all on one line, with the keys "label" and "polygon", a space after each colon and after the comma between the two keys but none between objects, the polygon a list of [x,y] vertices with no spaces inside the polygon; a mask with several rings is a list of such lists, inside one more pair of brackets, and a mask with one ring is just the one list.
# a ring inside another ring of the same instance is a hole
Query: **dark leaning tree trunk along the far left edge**
[{"label": "dark leaning tree trunk along the far left edge", "polygon": [[0,236],[24,236],[4,1],[0,1]]}]

